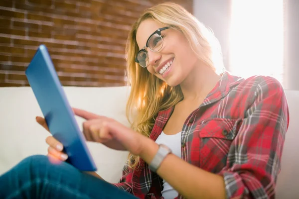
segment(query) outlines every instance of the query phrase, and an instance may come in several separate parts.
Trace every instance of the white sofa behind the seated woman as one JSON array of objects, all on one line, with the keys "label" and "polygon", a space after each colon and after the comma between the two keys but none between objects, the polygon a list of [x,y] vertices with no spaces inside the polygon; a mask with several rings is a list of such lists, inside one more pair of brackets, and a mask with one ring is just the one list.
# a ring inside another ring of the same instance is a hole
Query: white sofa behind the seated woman
[{"label": "white sofa behind the seated woman", "polygon": [[[106,115],[129,125],[125,105],[127,87],[64,87],[71,106]],[[290,126],[283,152],[282,171],[278,177],[277,198],[299,198],[299,91],[286,91],[290,108]],[[280,100],[280,99],[278,99]],[[23,158],[46,154],[49,135],[35,122],[42,115],[30,87],[0,88],[0,175]],[[81,127],[83,119],[76,117]],[[88,142],[98,167],[97,173],[108,182],[117,182],[128,152],[120,152]]]}]

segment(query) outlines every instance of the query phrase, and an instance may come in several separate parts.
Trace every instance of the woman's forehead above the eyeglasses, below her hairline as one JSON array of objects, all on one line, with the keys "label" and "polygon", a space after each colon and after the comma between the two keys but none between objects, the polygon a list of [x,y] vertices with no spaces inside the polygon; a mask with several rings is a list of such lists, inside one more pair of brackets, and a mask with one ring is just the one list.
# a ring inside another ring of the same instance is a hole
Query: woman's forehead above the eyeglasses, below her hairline
[{"label": "woman's forehead above the eyeglasses, below her hairline", "polygon": [[139,49],[142,49],[149,38],[149,36],[158,28],[164,27],[161,23],[154,21],[153,19],[146,19],[139,25],[136,33],[136,41]]}]

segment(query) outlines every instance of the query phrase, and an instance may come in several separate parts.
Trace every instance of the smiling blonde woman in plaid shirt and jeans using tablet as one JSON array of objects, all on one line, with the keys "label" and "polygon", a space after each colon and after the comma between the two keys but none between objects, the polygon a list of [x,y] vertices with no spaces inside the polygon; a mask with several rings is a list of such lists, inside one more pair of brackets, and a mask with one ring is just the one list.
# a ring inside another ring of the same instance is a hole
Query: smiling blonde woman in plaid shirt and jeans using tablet
[{"label": "smiling blonde woman in plaid shirt and jeans using tablet", "polygon": [[289,124],[277,80],[226,72],[213,34],[174,3],[133,25],[127,62],[132,128],[73,109],[87,140],[130,151],[120,182],[53,164],[67,155],[50,136],[49,158],[28,157],[0,177],[0,198],[275,197]]}]

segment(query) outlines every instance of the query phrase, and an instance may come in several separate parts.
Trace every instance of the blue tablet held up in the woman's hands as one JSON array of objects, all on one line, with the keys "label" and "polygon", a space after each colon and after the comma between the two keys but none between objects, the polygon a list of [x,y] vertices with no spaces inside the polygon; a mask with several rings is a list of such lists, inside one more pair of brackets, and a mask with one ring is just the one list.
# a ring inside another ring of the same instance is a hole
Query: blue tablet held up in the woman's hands
[{"label": "blue tablet held up in the woman's hands", "polygon": [[66,162],[80,171],[96,171],[45,45],[38,47],[25,74],[51,134],[64,146]]}]

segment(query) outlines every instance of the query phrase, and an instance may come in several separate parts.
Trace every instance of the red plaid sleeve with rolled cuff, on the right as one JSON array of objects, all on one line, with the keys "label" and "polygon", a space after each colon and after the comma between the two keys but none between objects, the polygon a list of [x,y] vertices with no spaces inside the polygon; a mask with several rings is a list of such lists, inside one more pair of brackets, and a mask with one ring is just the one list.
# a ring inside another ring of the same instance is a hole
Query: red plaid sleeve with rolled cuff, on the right
[{"label": "red plaid sleeve with rolled cuff, on the right", "polygon": [[260,76],[252,105],[220,172],[227,198],[275,198],[282,150],[289,126],[289,108],[281,84]]}]

